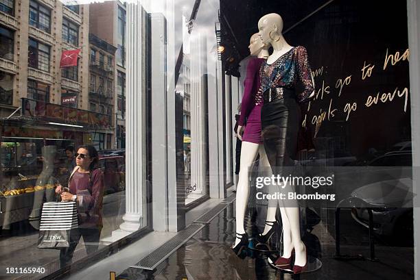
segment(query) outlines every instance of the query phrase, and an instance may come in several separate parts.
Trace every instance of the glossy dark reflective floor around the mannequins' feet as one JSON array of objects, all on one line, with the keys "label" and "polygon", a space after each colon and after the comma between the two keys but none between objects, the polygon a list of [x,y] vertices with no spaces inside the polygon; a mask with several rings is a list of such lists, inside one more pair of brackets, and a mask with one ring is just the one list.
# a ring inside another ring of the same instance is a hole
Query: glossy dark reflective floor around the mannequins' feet
[{"label": "glossy dark reflective floor around the mannequins' feet", "polygon": [[[322,267],[314,272],[301,275],[283,273],[268,265],[266,254],[250,249],[238,257],[230,249],[235,238],[234,207],[235,204],[231,203],[156,269],[127,268],[116,279],[414,279],[412,248],[377,246],[377,262],[338,261],[334,259],[334,240],[322,222],[303,237],[310,258],[317,257],[322,262]],[[369,248],[344,243],[342,253],[368,256]]]}]

